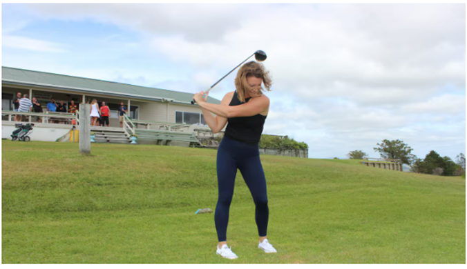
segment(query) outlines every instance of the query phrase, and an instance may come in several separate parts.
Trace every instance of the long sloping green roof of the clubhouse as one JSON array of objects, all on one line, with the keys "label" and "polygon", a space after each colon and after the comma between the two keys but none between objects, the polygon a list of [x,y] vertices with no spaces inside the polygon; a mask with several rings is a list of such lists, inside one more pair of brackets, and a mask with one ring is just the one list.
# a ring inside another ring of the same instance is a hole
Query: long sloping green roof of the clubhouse
[{"label": "long sloping green roof of the clubhouse", "polygon": [[[73,77],[65,74],[53,74],[33,70],[1,67],[1,80],[6,84],[35,86],[39,88],[57,88],[77,92],[108,94],[135,99],[173,99],[176,103],[189,103],[193,93],[176,92],[159,88],[135,86],[126,83]],[[209,103],[220,104],[218,99],[208,97]]]}]

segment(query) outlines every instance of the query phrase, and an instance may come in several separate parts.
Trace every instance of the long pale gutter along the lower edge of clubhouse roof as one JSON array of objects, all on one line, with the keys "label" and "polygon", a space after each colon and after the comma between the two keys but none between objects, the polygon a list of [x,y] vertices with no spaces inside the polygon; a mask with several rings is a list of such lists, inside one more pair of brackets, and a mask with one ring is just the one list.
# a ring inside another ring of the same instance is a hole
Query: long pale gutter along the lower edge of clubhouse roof
[{"label": "long pale gutter along the lower edge of clubhouse roof", "polygon": [[107,91],[102,91],[102,90],[91,90],[88,88],[73,88],[73,87],[66,87],[66,86],[57,86],[53,84],[46,84],[46,83],[28,83],[26,81],[17,81],[15,79],[2,79],[2,82],[14,84],[14,85],[22,85],[22,86],[38,86],[39,88],[55,88],[58,90],[72,90],[75,92],[93,92],[93,93],[99,93],[99,94],[109,94],[117,97],[135,97],[135,98],[140,98],[140,99],[150,99],[153,101],[162,101],[162,102],[173,102],[173,103],[183,103],[183,104],[191,104],[191,102],[184,102],[184,101],[175,101],[175,99],[171,98],[162,98],[162,97],[149,97],[145,95],[139,95],[139,94],[122,94],[120,92],[107,92]]}]

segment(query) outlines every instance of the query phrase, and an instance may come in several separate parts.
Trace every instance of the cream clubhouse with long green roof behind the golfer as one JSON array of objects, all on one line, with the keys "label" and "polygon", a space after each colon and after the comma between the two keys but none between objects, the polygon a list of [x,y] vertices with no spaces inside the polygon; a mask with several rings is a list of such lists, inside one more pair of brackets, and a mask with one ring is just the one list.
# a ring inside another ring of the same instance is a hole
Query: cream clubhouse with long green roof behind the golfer
[{"label": "cream clubhouse with long green roof behind the golfer", "polygon": [[[68,108],[70,101],[86,103],[97,99],[99,105],[102,101],[110,108],[109,127],[100,127],[102,130],[119,130],[118,107],[124,103],[129,111],[127,116],[136,129],[144,130],[179,130],[180,132],[196,132],[196,130],[209,129],[198,105],[192,105],[193,93],[175,92],[159,88],[134,86],[126,83],[73,77],[65,74],[53,74],[19,68],[1,68],[1,103],[2,103],[2,138],[9,139],[15,122],[12,114],[13,99],[17,92],[29,95],[39,101],[42,108],[54,98],[56,103],[64,101]],[[218,99],[208,97],[209,103],[220,104]],[[44,110],[45,111],[45,110]],[[70,115],[70,113],[66,113]],[[44,114],[41,114],[44,116]],[[35,122],[34,115],[25,118]],[[32,119],[32,120],[31,120]],[[39,134],[31,137],[36,141],[56,141],[66,132],[70,131],[70,121],[44,121],[38,124],[37,129],[49,128],[50,132],[37,131]],[[54,129],[54,130],[53,130]],[[97,130],[97,128],[94,128]],[[60,131],[61,130],[61,131]],[[54,134],[54,135],[51,135]],[[130,134],[131,135],[131,134]]]}]

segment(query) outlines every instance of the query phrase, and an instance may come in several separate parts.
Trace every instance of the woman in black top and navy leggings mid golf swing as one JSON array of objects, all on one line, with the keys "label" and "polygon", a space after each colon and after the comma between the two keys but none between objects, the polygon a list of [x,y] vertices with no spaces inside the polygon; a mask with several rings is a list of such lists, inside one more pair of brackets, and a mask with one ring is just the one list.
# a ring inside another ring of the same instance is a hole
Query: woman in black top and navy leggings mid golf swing
[{"label": "woman in black top and navy leggings mid golf swing", "polygon": [[[204,120],[214,133],[229,123],[218,148],[219,197],[214,216],[219,241],[216,253],[227,259],[238,258],[231,248],[227,247],[226,235],[237,168],[242,173],[256,205],[255,219],[260,237],[258,248],[266,253],[277,252],[267,241],[269,208],[266,179],[258,150],[269,111],[269,98],[263,94],[261,83],[269,91],[272,84],[269,72],[262,63],[250,61],[238,70],[235,79],[236,91],[225,94],[220,105],[207,103],[207,94],[204,92],[198,92],[193,98],[201,107]],[[216,117],[213,117],[211,112],[216,114]]]}]

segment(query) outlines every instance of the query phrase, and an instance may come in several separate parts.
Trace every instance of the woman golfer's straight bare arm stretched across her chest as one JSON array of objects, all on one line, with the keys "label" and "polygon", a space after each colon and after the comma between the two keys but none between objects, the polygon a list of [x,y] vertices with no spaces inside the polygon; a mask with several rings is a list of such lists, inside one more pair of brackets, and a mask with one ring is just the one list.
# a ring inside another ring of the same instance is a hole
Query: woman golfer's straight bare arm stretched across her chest
[{"label": "woman golfer's straight bare arm stretched across her chest", "polygon": [[[197,95],[199,97],[197,98]],[[195,94],[195,101],[198,106],[213,112],[221,117],[234,118],[234,117],[251,117],[260,114],[269,108],[269,98],[265,95],[252,98],[247,103],[242,103],[239,106],[221,106],[214,103],[207,103],[202,99],[203,92]]]}]

